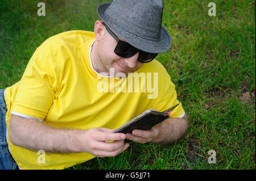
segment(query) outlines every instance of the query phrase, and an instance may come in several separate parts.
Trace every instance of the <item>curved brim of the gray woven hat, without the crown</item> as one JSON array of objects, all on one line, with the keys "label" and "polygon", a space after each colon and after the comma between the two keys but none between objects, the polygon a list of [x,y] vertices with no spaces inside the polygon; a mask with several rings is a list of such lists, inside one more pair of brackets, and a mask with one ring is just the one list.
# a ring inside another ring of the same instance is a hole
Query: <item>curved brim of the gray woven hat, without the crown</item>
[{"label": "curved brim of the gray woven hat, without the crown", "polygon": [[104,12],[109,7],[110,3],[102,3],[97,7],[97,14],[104,23],[110,27],[117,35],[121,36],[122,39],[127,41],[127,43],[133,45],[134,47],[143,50],[144,52],[149,53],[164,53],[167,52],[171,48],[171,36],[162,26],[160,32],[160,41],[152,41],[148,39],[144,39],[139,35],[134,35],[127,30],[124,30],[122,27],[119,27],[117,24],[113,23],[110,19],[108,19]]}]

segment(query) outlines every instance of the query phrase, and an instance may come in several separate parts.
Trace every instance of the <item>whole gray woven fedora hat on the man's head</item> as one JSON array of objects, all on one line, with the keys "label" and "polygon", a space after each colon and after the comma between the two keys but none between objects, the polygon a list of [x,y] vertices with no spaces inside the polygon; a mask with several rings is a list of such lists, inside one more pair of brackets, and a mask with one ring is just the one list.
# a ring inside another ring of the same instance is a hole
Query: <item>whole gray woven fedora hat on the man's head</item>
[{"label": "whole gray woven fedora hat on the man's head", "polygon": [[171,36],[162,26],[162,0],[114,0],[97,7],[100,19],[134,47],[150,53],[164,53]]}]

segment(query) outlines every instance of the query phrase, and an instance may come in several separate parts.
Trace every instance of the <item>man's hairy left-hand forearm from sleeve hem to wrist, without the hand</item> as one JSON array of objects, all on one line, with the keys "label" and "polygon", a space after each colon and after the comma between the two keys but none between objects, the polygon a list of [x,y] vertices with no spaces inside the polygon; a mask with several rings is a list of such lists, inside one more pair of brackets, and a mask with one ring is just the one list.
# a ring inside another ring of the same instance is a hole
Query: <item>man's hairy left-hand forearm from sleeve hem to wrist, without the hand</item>
[{"label": "man's hairy left-hand forearm from sleeve hem to wrist, without the hand", "polygon": [[79,130],[56,129],[38,120],[12,115],[9,137],[15,146],[49,153],[73,153],[79,150]]}]

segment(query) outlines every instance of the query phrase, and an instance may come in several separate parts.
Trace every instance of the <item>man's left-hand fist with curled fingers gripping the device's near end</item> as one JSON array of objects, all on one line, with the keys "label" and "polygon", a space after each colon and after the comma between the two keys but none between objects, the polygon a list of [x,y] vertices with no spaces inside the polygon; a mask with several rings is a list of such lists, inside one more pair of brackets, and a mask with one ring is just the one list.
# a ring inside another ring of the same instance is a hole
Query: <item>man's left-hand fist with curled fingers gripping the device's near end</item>
[{"label": "man's left-hand fist with curled fingers gripping the device's near end", "polygon": [[[128,143],[124,143],[124,133],[112,133],[114,129],[92,128],[86,132],[83,148],[96,157],[115,157],[125,151]],[[114,141],[114,142],[105,142]]]}]

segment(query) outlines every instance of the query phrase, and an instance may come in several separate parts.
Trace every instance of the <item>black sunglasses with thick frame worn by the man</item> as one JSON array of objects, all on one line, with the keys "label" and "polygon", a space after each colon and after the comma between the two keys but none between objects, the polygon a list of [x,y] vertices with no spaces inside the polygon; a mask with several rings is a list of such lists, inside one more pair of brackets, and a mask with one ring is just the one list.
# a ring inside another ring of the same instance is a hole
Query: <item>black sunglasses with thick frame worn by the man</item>
[{"label": "black sunglasses with thick frame worn by the man", "polygon": [[109,32],[109,34],[117,41],[117,46],[115,47],[115,54],[117,54],[120,57],[123,58],[129,58],[134,56],[137,52],[139,52],[138,61],[142,63],[148,63],[154,60],[154,58],[158,55],[158,53],[148,53],[144,52],[138,48],[133,47],[129,43],[119,40],[117,36],[114,35],[114,33],[109,29],[108,26],[104,22],[102,22],[104,26],[106,27],[106,30]]}]

